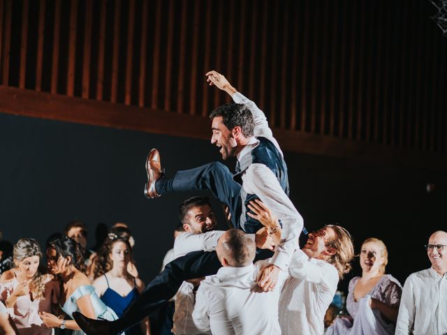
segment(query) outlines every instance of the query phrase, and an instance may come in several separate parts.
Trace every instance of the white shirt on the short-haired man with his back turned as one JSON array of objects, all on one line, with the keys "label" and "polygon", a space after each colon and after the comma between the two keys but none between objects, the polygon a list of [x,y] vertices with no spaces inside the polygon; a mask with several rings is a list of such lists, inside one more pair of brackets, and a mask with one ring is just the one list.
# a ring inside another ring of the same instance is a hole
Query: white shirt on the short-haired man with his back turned
[{"label": "white shirt on the short-haired man with his back turned", "polygon": [[277,335],[278,299],[287,274],[280,272],[272,292],[262,292],[256,274],[268,261],[247,267],[221,267],[207,276],[196,293],[193,320],[198,329],[214,335]]}]

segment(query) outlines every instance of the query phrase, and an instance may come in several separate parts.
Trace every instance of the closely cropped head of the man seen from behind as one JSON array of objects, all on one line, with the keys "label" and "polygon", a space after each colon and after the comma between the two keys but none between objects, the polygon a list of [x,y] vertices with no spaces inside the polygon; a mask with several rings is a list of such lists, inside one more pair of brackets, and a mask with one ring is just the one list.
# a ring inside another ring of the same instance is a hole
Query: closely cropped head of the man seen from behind
[{"label": "closely cropped head of the man seen from behind", "polygon": [[254,260],[256,244],[248,234],[238,229],[227,230],[227,239],[223,245],[230,251],[233,259],[232,267],[246,267]]}]

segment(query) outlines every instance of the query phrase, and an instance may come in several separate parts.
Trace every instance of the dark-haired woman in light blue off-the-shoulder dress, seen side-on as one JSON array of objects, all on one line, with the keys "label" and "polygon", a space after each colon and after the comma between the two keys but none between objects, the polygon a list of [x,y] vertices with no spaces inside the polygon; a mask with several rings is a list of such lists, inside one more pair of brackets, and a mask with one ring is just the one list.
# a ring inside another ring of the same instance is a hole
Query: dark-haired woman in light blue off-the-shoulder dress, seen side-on
[{"label": "dark-haired woman in light blue off-the-shoulder dress, seen side-on", "polygon": [[[61,280],[61,298],[59,305],[70,318],[75,311],[80,311],[89,318],[116,320],[117,315],[105,306],[96,295],[89,278],[83,273],[85,263],[82,246],[69,237],[58,237],[50,241],[47,248],[47,266],[51,274]],[[47,327],[73,329],[73,335],[85,334],[74,320],[63,320],[51,313],[41,313]]]}]

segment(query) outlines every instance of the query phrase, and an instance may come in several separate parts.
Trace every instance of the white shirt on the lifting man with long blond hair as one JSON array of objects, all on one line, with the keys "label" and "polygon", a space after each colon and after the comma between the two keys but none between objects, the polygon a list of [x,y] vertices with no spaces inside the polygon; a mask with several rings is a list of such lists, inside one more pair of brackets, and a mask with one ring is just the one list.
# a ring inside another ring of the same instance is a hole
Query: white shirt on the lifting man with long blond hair
[{"label": "white shirt on the lifting man with long blond hair", "polygon": [[279,298],[282,334],[323,334],[324,315],[337,290],[337,269],[297,250],[288,271],[291,276],[284,283]]}]

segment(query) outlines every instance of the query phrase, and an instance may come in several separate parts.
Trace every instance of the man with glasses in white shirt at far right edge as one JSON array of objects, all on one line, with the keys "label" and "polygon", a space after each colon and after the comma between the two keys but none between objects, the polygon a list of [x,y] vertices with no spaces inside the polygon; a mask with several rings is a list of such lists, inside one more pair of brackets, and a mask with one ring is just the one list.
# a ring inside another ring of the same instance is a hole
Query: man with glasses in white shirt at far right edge
[{"label": "man with glasses in white shirt at far right edge", "polygon": [[432,267],[406,279],[396,335],[447,333],[447,232],[434,232],[425,248]]}]

